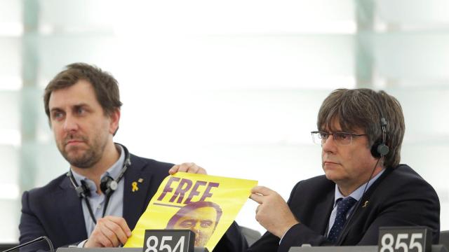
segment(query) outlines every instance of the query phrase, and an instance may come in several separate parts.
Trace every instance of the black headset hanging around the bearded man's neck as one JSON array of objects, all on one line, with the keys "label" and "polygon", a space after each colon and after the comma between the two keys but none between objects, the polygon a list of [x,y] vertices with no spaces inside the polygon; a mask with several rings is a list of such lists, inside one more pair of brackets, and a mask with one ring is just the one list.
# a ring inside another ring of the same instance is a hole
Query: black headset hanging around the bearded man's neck
[{"label": "black headset hanging around the bearded man's neck", "polygon": [[[119,182],[125,175],[126,169],[128,169],[128,166],[131,165],[131,157],[128,152],[128,149],[121,144],[119,144],[119,145],[123,148],[123,151],[125,152],[125,162],[123,162],[123,167],[121,168],[119,176],[117,176],[115,179],[112,179],[112,177],[109,175],[104,176],[100,181],[100,190],[106,196],[105,208],[103,209],[102,217],[105,217],[107,204],[109,204],[109,198],[111,197],[112,193],[114,193],[115,190],[117,190],[117,188],[119,187]],[[69,172],[67,172],[67,177],[69,177],[69,180],[72,183],[72,186],[75,188],[76,195],[78,195],[78,197],[81,200],[83,200],[83,199],[86,200],[86,205],[87,205],[89,214],[91,215],[92,221],[93,221],[93,223],[97,224],[97,220],[95,219],[95,216],[93,215],[92,207],[88,200],[88,197],[91,196],[91,189],[89,188],[88,184],[86,183],[86,181],[82,180],[81,185],[78,185],[78,183],[76,183],[76,179],[74,178],[71,170],[69,170]]]}]

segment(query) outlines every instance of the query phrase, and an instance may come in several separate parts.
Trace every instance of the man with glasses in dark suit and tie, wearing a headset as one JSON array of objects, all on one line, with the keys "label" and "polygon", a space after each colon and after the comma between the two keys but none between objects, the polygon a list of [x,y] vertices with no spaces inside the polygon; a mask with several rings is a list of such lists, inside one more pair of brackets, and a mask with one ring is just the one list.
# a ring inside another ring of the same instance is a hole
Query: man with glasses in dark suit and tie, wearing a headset
[{"label": "man with glasses in dark suit and tie, wearing a headset", "polygon": [[438,196],[408,165],[399,164],[405,124],[401,105],[369,89],[339,89],[321,105],[314,143],[323,176],[300,181],[288,202],[257,186],[256,220],[267,229],[249,251],[292,246],[375,245],[383,226],[427,226],[438,242]]}]

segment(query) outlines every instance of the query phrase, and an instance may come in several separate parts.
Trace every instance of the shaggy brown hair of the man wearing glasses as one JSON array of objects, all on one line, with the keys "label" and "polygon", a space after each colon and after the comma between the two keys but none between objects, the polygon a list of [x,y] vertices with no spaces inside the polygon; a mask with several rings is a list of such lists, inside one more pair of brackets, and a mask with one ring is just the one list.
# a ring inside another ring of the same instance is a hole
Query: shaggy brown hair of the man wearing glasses
[{"label": "shaggy brown hair of the man wearing glasses", "polygon": [[386,144],[389,146],[384,167],[396,167],[401,161],[406,125],[401,104],[387,92],[368,88],[334,90],[321,104],[316,126],[319,130],[327,128],[334,132],[333,120],[338,120],[344,132],[363,130],[373,146],[379,141],[382,143],[381,114],[387,120]]}]

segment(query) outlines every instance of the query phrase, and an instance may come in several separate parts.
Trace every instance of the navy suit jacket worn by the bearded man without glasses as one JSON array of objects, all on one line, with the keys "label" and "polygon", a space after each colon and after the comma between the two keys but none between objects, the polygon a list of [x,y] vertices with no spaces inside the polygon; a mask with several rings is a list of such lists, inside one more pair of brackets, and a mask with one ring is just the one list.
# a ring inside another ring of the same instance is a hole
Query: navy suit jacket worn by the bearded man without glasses
[{"label": "navy suit jacket worn by the bearded man without glasses", "polygon": [[[124,176],[123,192],[123,218],[131,230],[172,166],[131,155],[131,165]],[[139,190],[132,192],[131,184],[140,178],[143,182],[139,183]],[[35,188],[22,195],[20,244],[41,236],[51,239],[55,248],[78,244],[88,238],[84,223],[81,200],[65,174],[42,188]],[[233,223],[214,251],[241,251],[246,246],[238,225]],[[39,249],[48,250],[48,246],[41,242],[36,246],[27,246],[22,251]]]}]

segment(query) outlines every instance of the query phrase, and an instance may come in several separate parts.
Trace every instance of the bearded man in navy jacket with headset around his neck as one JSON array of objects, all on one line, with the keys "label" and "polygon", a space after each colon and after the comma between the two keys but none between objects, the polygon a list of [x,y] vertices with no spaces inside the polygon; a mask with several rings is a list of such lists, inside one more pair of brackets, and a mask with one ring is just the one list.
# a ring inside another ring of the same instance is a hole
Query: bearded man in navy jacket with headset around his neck
[{"label": "bearded man in navy jacket with headset around his neck", "polygon": [[[48,83],[45,111],[67,174],[22,195],[20,244],[46,236],[55,247],[125,244],[163,179],[175,172],[203,173],[193,163],[175,165],[140,158],[116,144],[120,97],[112,75],[70,64]],[[215,251],[239,251],[246,240],[234,223]],[[44,244],[24,251],[46,249]]]}]

